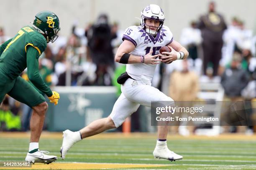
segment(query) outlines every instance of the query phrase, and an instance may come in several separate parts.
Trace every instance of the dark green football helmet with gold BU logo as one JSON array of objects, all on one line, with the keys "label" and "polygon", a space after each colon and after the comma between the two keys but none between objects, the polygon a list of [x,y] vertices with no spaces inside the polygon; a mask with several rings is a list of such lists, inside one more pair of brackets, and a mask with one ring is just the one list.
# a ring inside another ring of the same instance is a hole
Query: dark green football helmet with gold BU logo
[{"label": "dark green football helmet with gold BU logo", "polygon": [[51,11],[41,11],[36,14],[32,27],[46,37],[47,43],[54,42],[59,37],[57,35],[60,30],[59,18]]}]

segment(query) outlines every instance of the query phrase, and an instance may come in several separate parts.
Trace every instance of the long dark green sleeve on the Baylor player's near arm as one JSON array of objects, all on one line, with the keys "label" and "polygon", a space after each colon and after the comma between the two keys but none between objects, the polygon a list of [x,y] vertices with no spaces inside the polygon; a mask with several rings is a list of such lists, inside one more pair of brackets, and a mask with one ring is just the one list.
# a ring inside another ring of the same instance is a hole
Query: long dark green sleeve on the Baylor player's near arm
[{"label": "long dark green sleeve on the Baylor player's near arm", "polygon": [[34,47],[29,46],[27,48],[28,79],[39,90],[44,92],[48,97],[51,97],[52,96],[51,89],[44,83],[44,80],[39,75],[38,57],[39,57],[38,51]]}]

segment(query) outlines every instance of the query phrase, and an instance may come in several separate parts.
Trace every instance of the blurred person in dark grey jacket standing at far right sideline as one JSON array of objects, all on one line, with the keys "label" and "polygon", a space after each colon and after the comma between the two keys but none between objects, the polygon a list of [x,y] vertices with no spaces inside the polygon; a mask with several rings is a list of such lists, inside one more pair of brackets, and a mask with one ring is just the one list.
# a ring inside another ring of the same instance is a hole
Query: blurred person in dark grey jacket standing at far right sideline
[{"label": "blurred person in dark grey jacket standing at far right sideline", "polygon": [[[244,98],[241,96],[242,90],[249,82],[249,76],[246,70],[241,68],[241,55],[235,52],[229,67],[227,67],[221,76],[221,85],[224,88],[225,98],[223,101],[222,120],[225,122],[237,122],[237,111],[244,110]],[[243,113],[242,113],[243,114]],[[230,126],[223,126],[224,132],[229,132]],[[233,130],[231,130],[233,131]],[[238,126],[237,132],[245,132],[245,126]]]}]

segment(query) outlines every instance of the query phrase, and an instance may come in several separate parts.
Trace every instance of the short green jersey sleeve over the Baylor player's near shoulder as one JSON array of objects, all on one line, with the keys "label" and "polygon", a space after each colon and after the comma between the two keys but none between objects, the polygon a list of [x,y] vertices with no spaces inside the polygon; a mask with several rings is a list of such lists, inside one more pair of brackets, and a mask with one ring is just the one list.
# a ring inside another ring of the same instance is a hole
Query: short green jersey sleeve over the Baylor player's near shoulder
[{"label": "short green jersey sleeve over the Baylor player's near shoulder", "polygon": [[46,49],[47,42],[46,42],[46,39],[43,35],[41,35],[41,34],[32,34],[26,40],[26,45],[25,45],[25,51],[26,52],[27,52],[28,46],[34,47],[38,51],[39,56],[40,56],[42,54],[42,52],[44,52],[44,50]]}]

